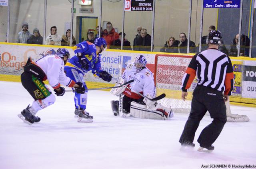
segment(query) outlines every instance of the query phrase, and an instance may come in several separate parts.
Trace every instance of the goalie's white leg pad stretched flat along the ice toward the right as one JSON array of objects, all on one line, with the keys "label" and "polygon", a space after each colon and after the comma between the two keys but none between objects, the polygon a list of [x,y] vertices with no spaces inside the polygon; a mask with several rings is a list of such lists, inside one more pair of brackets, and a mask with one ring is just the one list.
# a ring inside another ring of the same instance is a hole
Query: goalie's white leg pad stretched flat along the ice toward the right
[{"label": "goalie's white leg pad stretched flat along the ice toward the right", "polygon": [[131,116],[136,118],[168,120],[172,111],[170,107],[166,106],[161,106],[161,108],[158,108],[157,110],[148,110],[146,105],[131,102],[130,113]]}]

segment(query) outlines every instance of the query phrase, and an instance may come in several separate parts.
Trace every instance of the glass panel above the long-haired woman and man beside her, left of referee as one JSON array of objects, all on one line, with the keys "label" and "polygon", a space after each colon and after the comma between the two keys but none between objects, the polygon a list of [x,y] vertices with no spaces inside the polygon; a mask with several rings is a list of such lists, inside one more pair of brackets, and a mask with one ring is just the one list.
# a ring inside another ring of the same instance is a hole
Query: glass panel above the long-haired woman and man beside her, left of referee
[{"label": "glass panel above the long-haired woman and man beside her, left of referee", "polygon": [[153,51],[159,52],[171,36],[178,41],[180,33],[188,36],[189,10],[188,0],[156,1]]}]

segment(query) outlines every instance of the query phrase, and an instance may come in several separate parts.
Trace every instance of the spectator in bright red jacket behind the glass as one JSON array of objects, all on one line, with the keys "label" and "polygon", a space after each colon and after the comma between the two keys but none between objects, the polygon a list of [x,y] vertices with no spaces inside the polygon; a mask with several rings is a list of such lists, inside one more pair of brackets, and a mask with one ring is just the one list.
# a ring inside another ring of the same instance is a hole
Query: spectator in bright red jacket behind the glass
[{"label": "spectator in bright red jacket behind the glass", "polygon": [[106,29],[102,32],[102,37],[106,40],[108,49],[110,49],[110,45],[114,45],[115,40],[119,38],[111,22],[107,23]]}]

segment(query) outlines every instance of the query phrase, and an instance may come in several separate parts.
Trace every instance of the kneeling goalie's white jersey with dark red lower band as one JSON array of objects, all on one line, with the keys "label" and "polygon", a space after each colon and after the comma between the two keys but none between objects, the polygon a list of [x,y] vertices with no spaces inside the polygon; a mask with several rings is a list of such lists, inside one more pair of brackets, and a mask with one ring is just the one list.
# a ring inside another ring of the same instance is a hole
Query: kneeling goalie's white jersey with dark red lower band
[{"label": "kneeling goalie's white jersey with dark red lower band", "polygon": [[130,80],[134,80],[133,83],[130,83],[129,88],[124,90],[124,95],[134,99],[141,98],[140,95],[131,92],[131,90],[134,90],[136,92],[142,93],[145,96],[148,94],[152,97],[156,96],[156,87],[153,73],[147,67],[137,73],[134,63],[128,63],[122,75],[122,79],[124,79],[124,83]]}]

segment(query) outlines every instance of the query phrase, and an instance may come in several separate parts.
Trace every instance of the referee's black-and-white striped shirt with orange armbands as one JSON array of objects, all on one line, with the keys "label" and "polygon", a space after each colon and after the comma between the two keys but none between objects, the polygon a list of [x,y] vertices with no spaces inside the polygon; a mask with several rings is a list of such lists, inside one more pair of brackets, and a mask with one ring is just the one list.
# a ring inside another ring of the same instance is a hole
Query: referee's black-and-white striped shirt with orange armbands
[{"label": "referee's black-and-white striped shirt with orange armbands", "polygon": [[225,95],[231,95],[234,73],[230,58],[218,49],[210,48],[192,58],[182,78],[182,91],[186,92],[197,76],[197,85],[207,86]]}]

